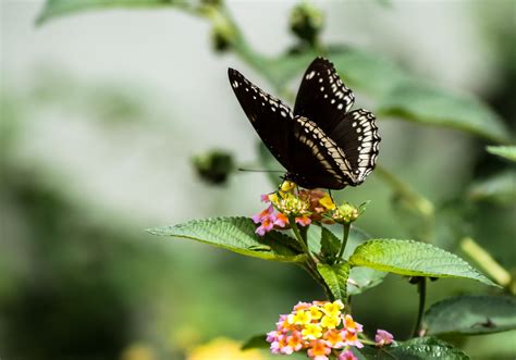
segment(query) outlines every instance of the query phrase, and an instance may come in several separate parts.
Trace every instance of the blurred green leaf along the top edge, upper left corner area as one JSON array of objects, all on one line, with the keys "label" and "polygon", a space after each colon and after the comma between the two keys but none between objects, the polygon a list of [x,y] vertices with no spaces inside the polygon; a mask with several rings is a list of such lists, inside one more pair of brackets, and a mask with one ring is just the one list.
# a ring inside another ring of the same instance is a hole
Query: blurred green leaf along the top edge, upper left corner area
[{"label": "blurred green leaf along the top edge, upper left corner area", "polygon": [[36,20],[40,25],[50,18],[81,11],[109,8],[157,8],[170,7],[180,1],[174,0],[47,0]]}]

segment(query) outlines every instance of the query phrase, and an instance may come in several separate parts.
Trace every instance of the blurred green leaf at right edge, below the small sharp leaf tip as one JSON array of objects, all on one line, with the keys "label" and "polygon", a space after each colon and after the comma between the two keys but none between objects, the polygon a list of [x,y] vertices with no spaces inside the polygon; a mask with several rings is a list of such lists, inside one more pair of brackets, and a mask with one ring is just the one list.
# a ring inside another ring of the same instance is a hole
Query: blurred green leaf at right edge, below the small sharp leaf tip
[{"label": "blurred green leaf at right edge, below the small sharp leaf tip", "polygon": [[516,171],[508,170],[474,183],[468,190],[471,200],[501,204],[516,202]]}]

